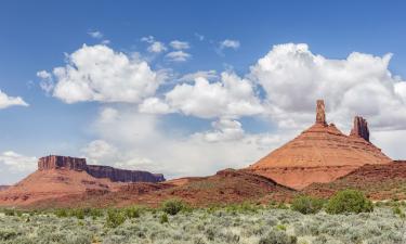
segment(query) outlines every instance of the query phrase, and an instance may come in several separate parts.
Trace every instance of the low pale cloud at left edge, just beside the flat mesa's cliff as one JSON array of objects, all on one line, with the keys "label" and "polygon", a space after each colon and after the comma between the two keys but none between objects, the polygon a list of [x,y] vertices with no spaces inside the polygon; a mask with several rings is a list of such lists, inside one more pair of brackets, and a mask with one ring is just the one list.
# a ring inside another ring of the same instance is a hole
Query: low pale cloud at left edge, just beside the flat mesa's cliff
[{"label": "low pale cloud at left edge, just beside the flat mesa's cliff", "polygon": [[29,172],[37,168],[37,157],[27,157],[6,151],[0,154],[0,164],[11,172]]}]

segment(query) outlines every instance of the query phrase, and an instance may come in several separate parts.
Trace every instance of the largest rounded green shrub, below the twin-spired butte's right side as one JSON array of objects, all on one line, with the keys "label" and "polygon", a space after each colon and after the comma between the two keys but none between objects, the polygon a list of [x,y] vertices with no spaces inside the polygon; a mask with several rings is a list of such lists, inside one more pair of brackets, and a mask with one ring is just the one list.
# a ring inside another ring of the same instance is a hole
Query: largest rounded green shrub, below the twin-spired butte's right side
[{"label": "largest rounded green shrub, below the twin-spired butte's right side", "polygon": [[328,214],[349,214],[372,211],[374,204],[361,191],[344,190],[337,192],[326,207]]}]

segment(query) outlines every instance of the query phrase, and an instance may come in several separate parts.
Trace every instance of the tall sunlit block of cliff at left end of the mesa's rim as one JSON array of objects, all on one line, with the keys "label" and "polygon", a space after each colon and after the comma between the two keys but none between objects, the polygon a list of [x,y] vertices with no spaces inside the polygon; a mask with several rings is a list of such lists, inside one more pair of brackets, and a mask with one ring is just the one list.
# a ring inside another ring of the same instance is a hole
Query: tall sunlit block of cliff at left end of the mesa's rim
[{"label": "tall sunlit block of cliff at left end of the mesa's rim", "polygon": [[50,155],[50,156],[41,157],[38,160],[39,170],[58,169],[58,168],[86,170],[87,169],[86,158]]}]

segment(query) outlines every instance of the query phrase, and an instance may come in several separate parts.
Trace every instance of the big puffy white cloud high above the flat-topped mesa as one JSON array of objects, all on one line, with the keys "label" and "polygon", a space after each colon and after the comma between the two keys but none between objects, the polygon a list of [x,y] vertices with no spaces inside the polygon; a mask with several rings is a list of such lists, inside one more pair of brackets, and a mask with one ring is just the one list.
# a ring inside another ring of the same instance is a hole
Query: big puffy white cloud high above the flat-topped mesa
[{"label": "big puffy white cloud high above the flat-topped mesa", "polygon": [[[47,79],[44,72],[39,73]],[[163,76],[145,61],[110,48],[83,47],[67,55],[64,67],[53,69],[53,95],[66,103],[84,101],[137,103],[155,93]]]}]

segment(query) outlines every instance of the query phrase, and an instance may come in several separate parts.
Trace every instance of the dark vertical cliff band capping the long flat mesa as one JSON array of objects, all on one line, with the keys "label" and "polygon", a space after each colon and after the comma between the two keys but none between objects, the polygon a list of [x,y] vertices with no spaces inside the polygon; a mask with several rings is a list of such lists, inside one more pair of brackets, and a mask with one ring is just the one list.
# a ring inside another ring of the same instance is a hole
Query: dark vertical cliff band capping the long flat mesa
[{"label": "dark vertical cliff band capping the long flat mesa", "polygon": [[41,157],[38,162],[38,170],[69,169],[86,171],[94,178],[108,178],[114,182],[161,182],[165,177],[161,174],[150,174],[141,170],[118,169],[109,166],[88,165],[86,158],[50,155]]}]

